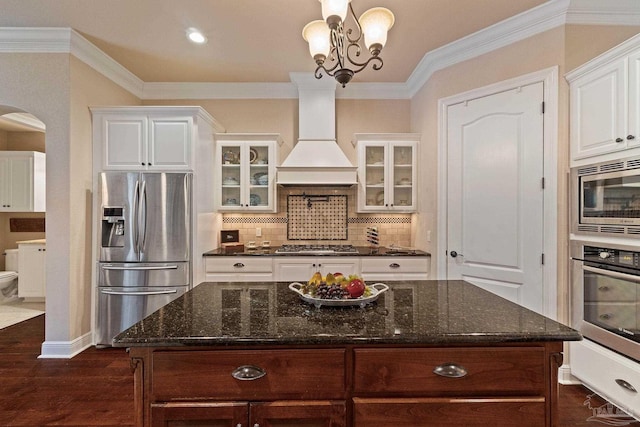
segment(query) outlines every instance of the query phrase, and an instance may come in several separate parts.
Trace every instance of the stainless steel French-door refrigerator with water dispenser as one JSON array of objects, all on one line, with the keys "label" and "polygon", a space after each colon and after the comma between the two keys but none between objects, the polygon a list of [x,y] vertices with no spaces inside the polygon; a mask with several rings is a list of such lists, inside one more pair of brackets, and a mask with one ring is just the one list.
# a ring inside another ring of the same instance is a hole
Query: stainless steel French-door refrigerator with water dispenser
[{"label": "stainless steel French-door refrigerator with water dispenser", "polygon": [[100,174],[96,345],[184,294],[191,277],[188,173]]}]

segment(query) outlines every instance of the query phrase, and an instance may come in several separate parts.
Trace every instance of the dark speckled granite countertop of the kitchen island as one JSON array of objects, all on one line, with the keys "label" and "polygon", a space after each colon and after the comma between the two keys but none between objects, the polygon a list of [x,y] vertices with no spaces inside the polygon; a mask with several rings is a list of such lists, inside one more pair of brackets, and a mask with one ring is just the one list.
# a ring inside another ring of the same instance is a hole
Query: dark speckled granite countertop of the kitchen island
[{"label": "dark speckled granite countertop of the kitchen island", "polygon": [[288,283],[202,283],[120,333],[114,345],[487,345],[581,339],[567,326],[464,281],[388,285],[364,308],[316,308]]}]

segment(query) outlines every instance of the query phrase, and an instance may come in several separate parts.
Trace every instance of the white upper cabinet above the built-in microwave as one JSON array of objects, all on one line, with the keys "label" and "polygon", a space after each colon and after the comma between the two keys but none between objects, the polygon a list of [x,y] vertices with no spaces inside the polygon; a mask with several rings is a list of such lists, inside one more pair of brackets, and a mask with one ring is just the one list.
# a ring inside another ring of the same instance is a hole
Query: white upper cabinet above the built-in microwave
[{"label": "white upper cabinet above the built-in microwave", "polygon": [[[572,166],[640,152],[640,38],[567,74]],[[633,150],[633,151],[629,151]],[[585,159],[584,161],[581,161]]]}]

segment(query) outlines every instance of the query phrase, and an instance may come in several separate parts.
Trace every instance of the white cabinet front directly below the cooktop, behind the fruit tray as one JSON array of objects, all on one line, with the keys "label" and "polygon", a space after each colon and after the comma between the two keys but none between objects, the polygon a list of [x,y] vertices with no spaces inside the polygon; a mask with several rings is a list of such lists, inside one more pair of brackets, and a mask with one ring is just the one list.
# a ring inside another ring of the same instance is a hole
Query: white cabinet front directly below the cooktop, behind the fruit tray
[{"label": "white cabinet front directly below the cooktop, behind the fruit tray", "polygon": [[360,273],[358,257],[282,257],[273,261],[275,279],[281,282],[306,282],[319,271],[323,276],[327,273],[340,272],[345,276]]}]

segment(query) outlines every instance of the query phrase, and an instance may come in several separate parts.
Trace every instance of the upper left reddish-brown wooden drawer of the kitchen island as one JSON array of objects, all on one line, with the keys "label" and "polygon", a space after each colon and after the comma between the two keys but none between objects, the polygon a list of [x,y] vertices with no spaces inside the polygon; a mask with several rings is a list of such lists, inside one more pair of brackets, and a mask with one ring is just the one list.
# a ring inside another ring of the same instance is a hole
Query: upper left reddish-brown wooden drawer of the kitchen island
[{"label": "upper left reddish-brown wooden drawer of the kitchen island", "polygon": [[[234,378],[243,366],[265,375]],[[154,401],[334,399],[345,393],[344,349],[157,351],[151,370]]]}]

